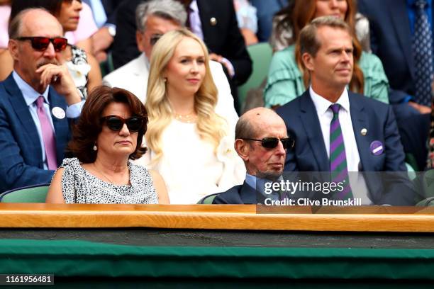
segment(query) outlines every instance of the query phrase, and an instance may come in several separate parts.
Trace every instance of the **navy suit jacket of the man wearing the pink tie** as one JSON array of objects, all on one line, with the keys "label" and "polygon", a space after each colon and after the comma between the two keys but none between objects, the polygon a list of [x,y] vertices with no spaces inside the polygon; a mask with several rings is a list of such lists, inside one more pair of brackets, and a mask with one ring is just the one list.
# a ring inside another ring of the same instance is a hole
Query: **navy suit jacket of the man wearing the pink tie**
[{"label": "navy suit jacket of the man wearing the pink tie", "polygon": [[[50,88],[51,108],[67,109],[65,98]],[[67,118],[52,117],[57,165],[62,163],[70,137]],[[0,82],[0,191],[50,183],[54,171],[43,169],[42,148],[36,125],[12,74]]]}]

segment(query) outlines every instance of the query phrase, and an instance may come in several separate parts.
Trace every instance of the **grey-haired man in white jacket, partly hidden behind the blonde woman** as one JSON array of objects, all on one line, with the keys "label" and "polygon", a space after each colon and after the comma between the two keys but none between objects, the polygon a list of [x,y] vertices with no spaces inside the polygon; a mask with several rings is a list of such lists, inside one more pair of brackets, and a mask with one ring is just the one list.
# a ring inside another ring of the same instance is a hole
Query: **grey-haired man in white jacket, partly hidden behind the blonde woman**
[{"label": "grey-haired man in white jacket, partly hidden behind the blonde woman", "polygon": [[[135,21],[138,27],[137,45],[143,53],[106,75],[103,84],[131,91],[145,103],[152,47],[164,33],[184,26],[187,12],[178,1],[153,0],[138,5]],[[233,96],[223,67],[215,61],[210,61],[209,66],[218,89],[216,113],[226,118],[231,125],[235,125],[238,114],[235,112]]]}]

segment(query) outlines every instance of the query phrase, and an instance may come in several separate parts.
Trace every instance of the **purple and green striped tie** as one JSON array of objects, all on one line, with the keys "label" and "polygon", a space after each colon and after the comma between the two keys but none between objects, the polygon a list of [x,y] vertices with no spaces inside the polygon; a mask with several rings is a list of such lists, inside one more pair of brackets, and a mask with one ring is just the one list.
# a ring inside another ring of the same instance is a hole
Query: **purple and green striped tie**
[{"label": "purple and green striped tie", "polygon": [[352,198],[352,192],[348,179],[345,145],[339,123],[340,105],[338,103],[332,104],[330,109],[333,112],[333,118],[330,123],[330,174],[333,182],[345,182],[343,191],[336,193],[334,197],[338,200],[344,200]]}]

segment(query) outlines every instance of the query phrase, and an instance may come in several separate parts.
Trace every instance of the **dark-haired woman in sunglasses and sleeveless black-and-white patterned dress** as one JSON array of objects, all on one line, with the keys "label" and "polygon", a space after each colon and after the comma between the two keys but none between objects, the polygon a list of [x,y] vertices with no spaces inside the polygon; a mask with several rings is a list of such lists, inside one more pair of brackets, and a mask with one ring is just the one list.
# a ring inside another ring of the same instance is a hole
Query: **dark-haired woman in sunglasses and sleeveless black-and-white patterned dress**
[{"label": "dark-haired woman in sunglasses and sleeveless black-and-white patterned dress", "polygon": [[148,123],[145,106],[129,91],[99,86],[89,94],[47,203],[169,203],[165,182],[138,166]]}]

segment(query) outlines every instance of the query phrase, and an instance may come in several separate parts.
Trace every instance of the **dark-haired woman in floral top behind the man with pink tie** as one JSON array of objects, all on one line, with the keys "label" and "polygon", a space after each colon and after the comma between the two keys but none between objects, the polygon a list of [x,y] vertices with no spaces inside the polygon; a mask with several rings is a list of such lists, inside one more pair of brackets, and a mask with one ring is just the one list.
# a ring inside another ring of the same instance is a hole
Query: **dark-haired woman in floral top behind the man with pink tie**
[{"label": "dark-haired woman in floral top behind the man with pink tie", "polygon": [[[18,13],[28,8],[45,8],[57,18],[62,25],[65,38],[68,39],[67,49],[62,52],[62,59],[65,60],[69,74],[77,86],[82,98],[86,98],[87,91],[101,85],[101,70],[95,58],[87,54],[85,50],[77,46],[74,37],[68,33],[77,30],[79,26],[80,12],[82,11],[81,0],[13,0],[11,4],[12,20]],[[90,38],[89,38],[90,41]],[[91,45],[85,45],[85,47]],[[4,79],[12,72],[12,60],[9,52],[1,54],[0,79]]]}]

